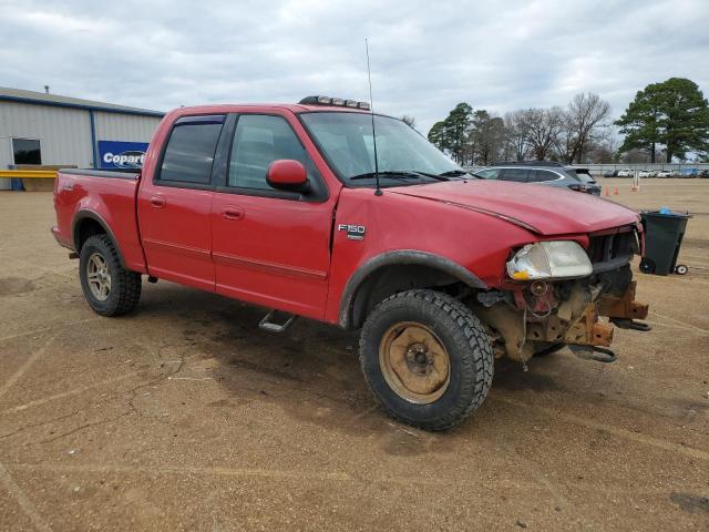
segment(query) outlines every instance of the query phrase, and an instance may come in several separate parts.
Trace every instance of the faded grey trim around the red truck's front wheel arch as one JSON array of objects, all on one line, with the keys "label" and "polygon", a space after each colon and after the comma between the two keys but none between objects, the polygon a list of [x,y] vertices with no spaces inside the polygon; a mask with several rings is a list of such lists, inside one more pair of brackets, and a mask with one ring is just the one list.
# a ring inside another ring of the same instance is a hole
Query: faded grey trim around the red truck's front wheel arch
[{"label": "faded grey trim around the red truck's front wheel arch", "polygon": [[470,269],[451,260],[450,258],[435,255],[433,253],[421,252],[418,249],[400,249],[395,252],[386,252],[368,259],[362,264],[349,278],[342,296],[340,297],[340,326],[345,329],[352,328],[352,306],[354,296],[359,288],[367,282],[369,276],[376,270],[386,266],[395,265],[420,265],[440,269],[465,283],[472,288],[486,289],[487,285],[483,283]]}]

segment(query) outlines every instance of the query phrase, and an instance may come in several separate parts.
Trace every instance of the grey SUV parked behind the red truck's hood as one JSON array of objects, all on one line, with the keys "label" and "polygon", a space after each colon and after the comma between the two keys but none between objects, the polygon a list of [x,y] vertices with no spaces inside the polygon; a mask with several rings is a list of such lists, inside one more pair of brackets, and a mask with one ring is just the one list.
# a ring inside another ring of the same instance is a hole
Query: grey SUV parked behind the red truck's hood
[{"label": "grey SUV parked behind the red truck's hood", "polygon": [[564,166],[552,161],[515,161],[493,163],[491,166],[474,172],[483,180],[516,181],[517,183],[536,183],[540,185],[569,188],[600,195],[600,185],[588,172],[588,168]]}]

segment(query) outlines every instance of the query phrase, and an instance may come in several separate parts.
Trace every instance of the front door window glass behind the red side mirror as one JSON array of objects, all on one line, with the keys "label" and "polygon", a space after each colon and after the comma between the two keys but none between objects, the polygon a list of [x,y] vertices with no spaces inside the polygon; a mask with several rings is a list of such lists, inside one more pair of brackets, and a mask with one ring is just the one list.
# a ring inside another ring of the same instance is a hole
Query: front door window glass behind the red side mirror
[{"label": "front door window glass behind the red side mirror", "polygon": [[280,116],[244,114],[234,133],[228,186],[273,190],[266,182],[274,161],[289,158],[306,167],[308,177],[317,171],[288,122]]}]

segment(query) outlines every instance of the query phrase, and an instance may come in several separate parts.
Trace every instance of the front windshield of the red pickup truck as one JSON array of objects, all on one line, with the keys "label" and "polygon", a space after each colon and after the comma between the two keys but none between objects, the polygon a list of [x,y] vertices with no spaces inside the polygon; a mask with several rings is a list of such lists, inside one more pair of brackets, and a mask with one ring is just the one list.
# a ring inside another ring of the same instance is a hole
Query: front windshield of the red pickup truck
[{"label": "front windshield of the red pickup truck", "polygon": [[[300,115],[335,172],[348,185],[373,186],[371,114],[314,112]],[[374,115],[380,181],[386,186],[470,177],[423,136],[400,120]]]}]

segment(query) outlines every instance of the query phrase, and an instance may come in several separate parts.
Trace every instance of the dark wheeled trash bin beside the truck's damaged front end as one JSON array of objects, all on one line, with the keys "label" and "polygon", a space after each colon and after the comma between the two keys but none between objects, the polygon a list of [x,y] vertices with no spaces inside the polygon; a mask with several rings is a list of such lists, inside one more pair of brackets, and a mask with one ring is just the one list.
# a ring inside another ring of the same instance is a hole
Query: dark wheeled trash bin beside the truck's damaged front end
[{"label": "dark wheeled trash bin beside the truck's damaged front end", "polygon": [[675,213],[667,208],[640,213],[645,231],[645,253],[640,260],[644,274],[667,275],[672,272],[684,275],[687,266],[677,265],[677,256],[685,237],[688,213]]}]

